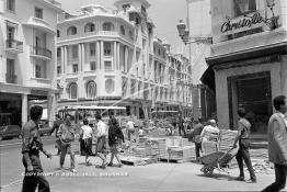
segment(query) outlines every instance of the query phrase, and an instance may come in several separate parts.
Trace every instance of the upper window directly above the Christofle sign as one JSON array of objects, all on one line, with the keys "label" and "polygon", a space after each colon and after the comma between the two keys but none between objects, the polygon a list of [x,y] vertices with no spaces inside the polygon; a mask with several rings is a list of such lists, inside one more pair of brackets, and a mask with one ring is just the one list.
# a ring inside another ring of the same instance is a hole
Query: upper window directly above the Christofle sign
[{"label": "upper window directly above the Christofle sign", "polygon": [[256,11],[256,0],[234,0],[236,16]]}]

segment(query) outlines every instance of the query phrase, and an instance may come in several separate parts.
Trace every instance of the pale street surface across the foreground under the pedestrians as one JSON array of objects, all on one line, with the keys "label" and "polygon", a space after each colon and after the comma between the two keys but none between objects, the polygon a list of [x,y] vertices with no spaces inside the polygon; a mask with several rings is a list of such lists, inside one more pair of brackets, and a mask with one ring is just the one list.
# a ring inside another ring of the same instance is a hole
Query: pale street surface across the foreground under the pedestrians
[{"label": "pale street surface across the foreground under the pedestrians", "polygon": [[[44,147],[56,154],[54,137],[45,137]],[[1,142],[1,191],[21,191],[24,168],[22,166],[20,139]],[[259,173],[257,183],[250,184],[233,181],[239,174],[238,168],[230,174],[215,170],[213,177],[205,177],[199,170],[200,165],[193,162],[168,163],[158,162],[147,166],[123,166],[102,170],[99,158],[92,157],[93,166],[84,166],[84,157],[76,156],[78,173],[69,170],[60,172],[59,156],[47,159],[42,155],[43,168],[51,191],[261,191],[274,180],[274,174]],[[69,168],[69,156],[65,168]],[[248,171],[245,171],[246,179]]]}]

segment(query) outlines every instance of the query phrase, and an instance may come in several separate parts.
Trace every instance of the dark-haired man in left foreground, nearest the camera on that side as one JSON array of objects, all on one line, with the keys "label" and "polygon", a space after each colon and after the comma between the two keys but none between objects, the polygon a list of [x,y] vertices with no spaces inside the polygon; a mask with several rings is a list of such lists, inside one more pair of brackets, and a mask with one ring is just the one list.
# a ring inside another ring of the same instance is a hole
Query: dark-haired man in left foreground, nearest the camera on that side
[{"label": "dark-haired man in left foreground, nearest the camera on that side", "polygon": [[42,192],[49,192],[49,183],[43,174],[39,159],[39,151],[47,158],[51,155],[43,148],[43,143],[38,133],[38,122],[43,114],[43,108],[34,105],[30,110],[31,120],[22,128],[22,154],[25,176],[23,179],[22,192],[34,192],[36,188]]}]

